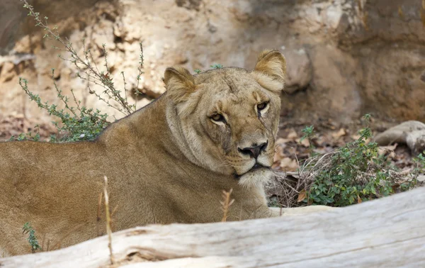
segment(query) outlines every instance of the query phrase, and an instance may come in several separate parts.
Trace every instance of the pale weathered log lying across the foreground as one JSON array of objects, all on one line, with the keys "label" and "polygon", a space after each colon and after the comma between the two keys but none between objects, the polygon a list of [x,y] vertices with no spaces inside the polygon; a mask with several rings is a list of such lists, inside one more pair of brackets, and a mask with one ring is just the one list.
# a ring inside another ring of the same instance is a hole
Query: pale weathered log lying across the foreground
[{"label": "pale weathered log lying across the foreground", "polygon": [[[425,267],[425,188],[304,216],[133,228],[112,245],[123,267]],[[106,236],[0,259],[1,268],[108,264]]]}]

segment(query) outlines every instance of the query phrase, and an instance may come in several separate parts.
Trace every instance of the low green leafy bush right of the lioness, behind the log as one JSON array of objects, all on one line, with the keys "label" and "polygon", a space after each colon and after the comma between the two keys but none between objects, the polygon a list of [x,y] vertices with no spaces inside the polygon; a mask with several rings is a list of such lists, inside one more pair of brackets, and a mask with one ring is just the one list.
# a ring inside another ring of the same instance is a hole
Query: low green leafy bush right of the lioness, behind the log
[{"label": "low green leafy bush right of the lioness, behind the log", "polygon": [[[370,115],[363,117],[370,122]],[[312,127],[305,128],[305,138],[311,137]],[[302,172],[313,179],[307,187],[303,201],[327,206],[348,206],[353,203],[376,199],[395,193],[395,189],[407,191],[415,179],[400,184],[395,168],[378,155],[378,144],[369,142],[370,128],[358,133],[360,137],[327,155],[307,160]],[[419,158],[420,159],[420,158]],[[418,160],[421,161],[421,160]]]}]

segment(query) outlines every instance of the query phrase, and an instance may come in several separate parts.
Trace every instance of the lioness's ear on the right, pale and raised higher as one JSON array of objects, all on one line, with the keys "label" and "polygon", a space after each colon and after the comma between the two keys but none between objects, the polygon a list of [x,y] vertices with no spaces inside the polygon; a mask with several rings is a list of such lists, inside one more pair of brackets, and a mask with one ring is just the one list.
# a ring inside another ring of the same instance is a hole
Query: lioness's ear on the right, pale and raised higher
[{"label": "lioness's ear on the right, pale and raised higher", "polygon": [[255,79],[271,91],[280,91],[285,86],[286,60],[278,50],[264,50],[260,53],[254,71]]}]

